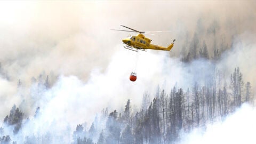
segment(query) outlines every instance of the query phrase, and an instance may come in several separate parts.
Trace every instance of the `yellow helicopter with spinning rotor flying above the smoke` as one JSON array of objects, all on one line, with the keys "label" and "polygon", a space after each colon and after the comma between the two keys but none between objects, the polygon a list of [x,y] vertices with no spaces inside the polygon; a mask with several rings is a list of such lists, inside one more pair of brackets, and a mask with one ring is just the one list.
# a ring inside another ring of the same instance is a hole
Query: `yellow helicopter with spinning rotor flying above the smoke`
[{"label": "yellow helicopter with spinning rotor flying above the smoke", "polygon": [[[122,25],[121,25],[122,26]],[[149,34],[149,33],[159,33],[159,32],[165,32],[165,31],[138,31],[126,26],[122,26],[131,30],[119,30],[119,29],[111,29],[111,30],[118,30],[118,31],[129,31],[129,32],[134,32],[134,33],[139,33],[137,36],[129,36],[128,38],[122,39],[123,43],[125,44],[124,48],[132,51],[138,52],[138,50],[145,51],[146,49],[151,49],[151,50],[162,50],[162,51],[170,51],[173,47],[174,41],[167,46],[159,46],[159,45],[154,45],[150,44],[151,39],[145,37],[143,33]]]}]

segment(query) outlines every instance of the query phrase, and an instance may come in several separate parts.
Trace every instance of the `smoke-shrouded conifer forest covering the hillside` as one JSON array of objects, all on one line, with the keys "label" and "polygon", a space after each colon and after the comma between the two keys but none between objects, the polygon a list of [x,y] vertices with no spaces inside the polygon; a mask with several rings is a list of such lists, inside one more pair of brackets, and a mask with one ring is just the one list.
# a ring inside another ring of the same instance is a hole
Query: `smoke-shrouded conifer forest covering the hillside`
[{"label": "smoke-shrouded conifer forest covering the hillside", "polygon": [[[138,95],[143,100],[137,108],[132,107],[130,100],[127,100],[121,111],[104,108],[95,117],[90,129],[87,130],[84,124],[77,124],[73,127],[75,131],[68,137],[50,131],[44,135],[19,134],[22,126],[36,119],[41,112],[38,107],[33,117],[25,117],[19,107],[13,105],[10,114],[3,119],[0,142],[18,143],[16,137],[22,137],[23,143],[177,143],[182,138],[181,133],[189,133],[194,128],[204,130],[207,124],[225,120],[243,103],[253,104],[251,83],[244,82],[242,70],[234,68],[226,82],[223,80],[224,72],[216,67],[221,53],[231,49],[227,44],[222,41],[220,49],[213,50],[212,57],[206,43],[203,41],[199,44],[197,34],[191,40],[190,47],[187,45],[184,44],[180,54],[180,60],[185,65],[202,59],[212,66],[212,69],[207,69],[207,75],[203,72],[198,74],[202,75],[203,81],[195,81],[188,88],[173,86],[171,91],[158,86],[154,95],[147,91]],[[38,81],[38,87],[50,89],[48,78]],[[19,81],[18,87],[20,85]],[[5,129],[12,130],[14,140],[10,135],[3,135]]]}]

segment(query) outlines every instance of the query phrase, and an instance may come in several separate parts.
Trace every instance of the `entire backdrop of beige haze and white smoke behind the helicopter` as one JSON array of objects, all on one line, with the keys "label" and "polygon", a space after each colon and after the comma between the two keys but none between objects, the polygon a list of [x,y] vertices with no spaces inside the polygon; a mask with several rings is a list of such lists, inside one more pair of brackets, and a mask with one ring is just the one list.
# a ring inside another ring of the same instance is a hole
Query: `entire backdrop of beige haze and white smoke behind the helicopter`
[{"label": "entire backdrop of beige haze and white smoke behind the helicopter", "polygon": [[[0,119],[13,104],[31,118],[16,136],[11,134],[13,127],[5,128],[4,134],[14,140],[49,131],[68,136],[77,124],[90,125],[102,108],[122,110],[127,99],[140,107],[143,93],[148,90],[153,97],[158,84],[167,92],[174,85],[203,84],[212,75],[211,63],[197,59],[185,64],[179,59],[182,46],[188,49],[195,33],[199,46],[205,40],[210,57],[215,42],[231,46],[222,53],[217,68],[225,71],[227,82],[234,68],[241,68],[244,81],[251,82],[255,91],[255,2],[3,1],[0,5]],[[119,25],[172,30],[150,36],[152,43],[167,46],[172,39],[177,41],[170,53],[139,52],[138,79],[132,83],[129,76],[137,56],[121,45],[128,33],[109,30]],[[50,89],[38,85],[47,75]],[[17,86],[19,79],[21,86]],[[41,115],[33,118],[37,107]],[[244,110],[250,108],[244,106],[234,116]]]}]

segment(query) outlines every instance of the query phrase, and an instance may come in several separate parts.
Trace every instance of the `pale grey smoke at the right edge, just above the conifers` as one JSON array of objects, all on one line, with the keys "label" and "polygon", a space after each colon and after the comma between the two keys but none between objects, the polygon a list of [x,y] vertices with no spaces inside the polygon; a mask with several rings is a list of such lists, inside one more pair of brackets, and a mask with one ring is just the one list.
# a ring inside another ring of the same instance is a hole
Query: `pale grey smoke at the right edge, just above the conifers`
[{"label": "pale grey smoke at the right edge, just above the conifers", "polygon": [[[221,61],[218,66],[227,74],[231,74],[235,67],[239,67],[242,70],[244,82],[252,82],[253,89],[255,90],[256,76],[254,66],[256,44],[255,35],[253,33],[245,32],[241,35],[237,35],[234,38],[234,46],[230,51],[221,55]],[[232,69],[233,68],[233,69]],[[229,77],[230,75],[227,75]]]}]

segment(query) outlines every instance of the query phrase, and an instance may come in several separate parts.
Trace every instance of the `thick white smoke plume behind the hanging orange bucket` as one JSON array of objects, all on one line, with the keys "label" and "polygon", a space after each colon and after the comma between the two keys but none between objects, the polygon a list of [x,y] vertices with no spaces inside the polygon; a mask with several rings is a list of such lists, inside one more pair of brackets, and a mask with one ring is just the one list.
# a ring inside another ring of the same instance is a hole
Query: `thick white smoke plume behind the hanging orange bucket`
[{"label": "thick white smoke plume behind the hanging orange bucket", "polygon": [[[118,46],[121,47],[121,45]],[[241,49],[234,48],[237,53],[227,52],[226,55],[231,56],[226,58],[232,59],[234,54],[241,53],[239,50]],[[254,49],[248,49],[248,51],[253,52]],[[30,114],[32,120],[31,123],[23,125],[19,137],[14,136],[14,138],[17,137],[15,140],[19,141],[19,138],[25,137],[25,135],[43,135],[50,130],[68,136],[72,134],[79,123],[87,122],[89,124],[87,126],[90,126],[95,114],[100,113],[102,108],[109,107],[110,110],[122,110],[127,99],[130,99],[134,105],[140,106],[145,90],[154,95],[157,84],[164,84],[165,87],[163,88],[167,92],[175,84],[178,87],[189,87],[195,81],[200,82],[204,79],[197,74],[202,74],[202,71],[207,73],[209,69],[212,69],[207,60],[196,60],[191,62],[190,65],[184,66],[179,59],[169,58],[164,52],[139,52],[138,80],[134,83],[130,82],[129,74],[133,70],[135,57],[136,55],[132,51],[120,50],[116,52],[106,70],[101,72],[99,68],[93,69],[86,83],[76,76],[60,76],[51,89],[43,89],[42,91],[41,88],[33,89],[32,87],[28,97],[29,99],[35,99],[34,102],[31,102],[33,103],[31,106],[34,107]],[[222,65],[227,65],[227,63],[223,60]],[[232,71],[233,67],[230,69]],[[41,115],[34,119],[31,116],[33,116],[35,108],[38,106],[41,107]],[[23,107],[26,108],[26,106]],[[247,109],[245,108],[245,110]],[[239,113],[241,112],[238,111],[238,114],[235,115],[240,117]],[[233,119],[227,121],[233,121]],[[241,120],[241,122],[243,121]],[[53,125],[52,123],[58,124]],[[219,131],[219,128],[216,131]],[[11,130],[10,133],[12,133]],[[6,134],[10,133],[6,132]],[[192,135],[195,133],[197,134],[196,130]],[[203,136],[206,139],[205,141],[209,140],[207,138],[210,136],[207,135],[210,134],[211,132],[206,131],[206,136]],[[191,142],[194,141],[194,136],[186,137],[193,139]],[[197,137],[199,136],[197,135]]]}]

